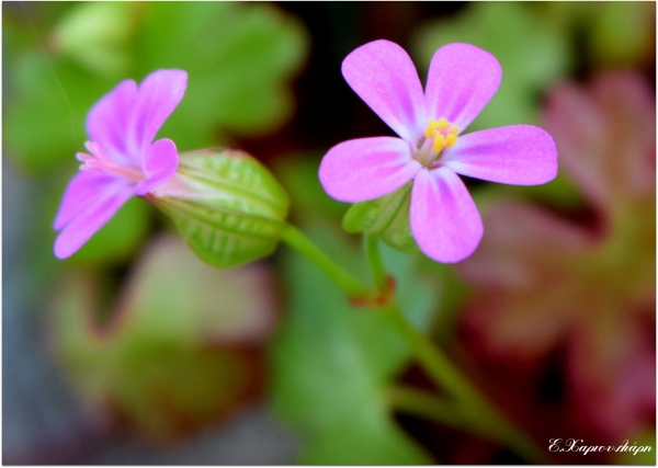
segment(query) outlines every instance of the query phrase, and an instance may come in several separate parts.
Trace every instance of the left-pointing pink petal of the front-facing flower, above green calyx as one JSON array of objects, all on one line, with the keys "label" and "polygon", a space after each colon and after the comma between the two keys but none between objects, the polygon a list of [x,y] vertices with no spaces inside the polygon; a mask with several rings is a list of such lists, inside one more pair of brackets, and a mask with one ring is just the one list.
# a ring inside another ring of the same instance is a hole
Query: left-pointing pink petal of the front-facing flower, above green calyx
[{"label": "left-pointing pink petal of the front-facing flower, above green calyx", "polygon": [[343,141],[322,159],[319,178],[325,191],[341,202],[374,199],[409,182],[422,165],[399,138]]}]

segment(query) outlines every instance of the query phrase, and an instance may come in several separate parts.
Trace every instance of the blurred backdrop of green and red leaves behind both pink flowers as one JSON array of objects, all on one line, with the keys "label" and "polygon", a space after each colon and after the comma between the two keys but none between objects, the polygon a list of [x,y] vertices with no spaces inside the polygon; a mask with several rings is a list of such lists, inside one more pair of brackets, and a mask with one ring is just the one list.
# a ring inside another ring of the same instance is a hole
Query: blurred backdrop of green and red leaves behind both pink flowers
[{"label": "blurred backdrop of green and red leaves behind both pink flowers", "polygon": [[[179,150],[243,149],[292,220],[355,274],[348,205],[317,181],[329,147],[393,135],[341,77],[358,46],[475,44],[503,69],[468,132],[534,124],[560,172],[536,187],[467,180],[485,221],[468,260],[385,249],[402,306],[540,446],[656,437],[656,11],[653,2],[3,2],[4,464],[522,463],[396,411],[427,388],[376,313],[280,247],[202,263],[134,198],[77,254],[50,229],[91,106],[118,81],[189,72],[161,129]],[[557,454],[655,464],[655,454]]]}]

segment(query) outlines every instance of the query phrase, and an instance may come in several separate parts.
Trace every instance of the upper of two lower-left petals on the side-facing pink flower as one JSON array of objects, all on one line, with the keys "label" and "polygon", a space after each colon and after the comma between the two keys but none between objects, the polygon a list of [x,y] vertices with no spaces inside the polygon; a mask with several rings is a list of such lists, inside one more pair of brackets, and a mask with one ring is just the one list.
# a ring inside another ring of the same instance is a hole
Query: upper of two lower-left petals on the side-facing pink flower
[{"label": "upper of two lower-left petals on the side-facing pink flower", "polygon": [[114,193],[116,178],[98,171],[81,171],[69,182],[53,229],[59,230],[99,199]]}]

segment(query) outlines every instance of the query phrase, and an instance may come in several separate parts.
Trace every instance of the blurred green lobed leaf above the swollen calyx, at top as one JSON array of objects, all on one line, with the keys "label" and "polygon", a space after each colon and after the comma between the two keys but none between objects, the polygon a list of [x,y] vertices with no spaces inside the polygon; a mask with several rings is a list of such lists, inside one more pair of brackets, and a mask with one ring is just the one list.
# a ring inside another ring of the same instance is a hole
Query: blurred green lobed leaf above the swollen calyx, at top
[{"label": "blurred green lobed leaf above the swollen calyx, at top", "polygon": [[202,148],[219,129],[256,135],[281,125],[307,43],[302,24],[272,5],[154,2],[137,37],[139,75],[189,72],[185,99],[162,132],[180,148]]}]

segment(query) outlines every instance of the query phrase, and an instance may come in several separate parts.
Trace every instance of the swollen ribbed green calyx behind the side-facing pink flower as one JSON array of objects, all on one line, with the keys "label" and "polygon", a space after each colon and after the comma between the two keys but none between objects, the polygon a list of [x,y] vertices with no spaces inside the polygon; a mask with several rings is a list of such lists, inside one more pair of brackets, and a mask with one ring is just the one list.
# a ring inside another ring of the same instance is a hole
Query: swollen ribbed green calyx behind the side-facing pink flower
[{"label": "swollen ribbed green calyx behind the side-facing pink flower", "polygon": [[179,153],[175,174],[148,197],[214,266],[269,255],[286,226],[287,194],[268,169],[242,151]]}]

